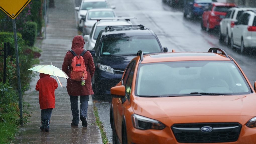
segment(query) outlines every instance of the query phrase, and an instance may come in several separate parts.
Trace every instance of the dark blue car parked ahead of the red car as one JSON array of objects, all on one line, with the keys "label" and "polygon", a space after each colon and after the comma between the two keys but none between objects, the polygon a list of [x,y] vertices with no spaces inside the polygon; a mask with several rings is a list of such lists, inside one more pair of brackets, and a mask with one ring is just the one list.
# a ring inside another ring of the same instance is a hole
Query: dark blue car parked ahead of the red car
[{"label": "dark blue car parked ahead of the red car", "polygon": [[184,17],[201,18],[203,12],[216,0],[184,0]]}]

